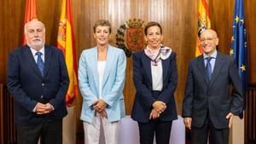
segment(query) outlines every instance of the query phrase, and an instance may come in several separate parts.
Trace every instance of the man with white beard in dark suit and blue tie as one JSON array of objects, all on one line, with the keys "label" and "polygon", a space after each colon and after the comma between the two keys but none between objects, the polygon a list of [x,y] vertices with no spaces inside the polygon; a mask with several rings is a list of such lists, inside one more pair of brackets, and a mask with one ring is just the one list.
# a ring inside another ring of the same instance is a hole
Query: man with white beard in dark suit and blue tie
[{"label": "man with white beard in dark suit and blue tie", "polygon": [[25,25],[26,45],[9,54],[7,85],[16,103],[19,144],[62,143],[62,118],[69,79],[60,49],[45,45],[39,20]]}]

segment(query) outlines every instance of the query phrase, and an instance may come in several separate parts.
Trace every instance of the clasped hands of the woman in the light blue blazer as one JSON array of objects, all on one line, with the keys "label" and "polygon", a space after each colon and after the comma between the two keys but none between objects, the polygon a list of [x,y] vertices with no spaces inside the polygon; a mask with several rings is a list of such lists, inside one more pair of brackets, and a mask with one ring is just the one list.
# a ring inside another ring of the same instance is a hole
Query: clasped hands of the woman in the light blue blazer
[{"label": "clasped hands of the woman in the light blue blazer", "polygon": [[106,107],[107,107],[107,103],[102,99],[98,99],[93,102],[93,108],[96,110],[96,112],[100,113],[102,118],[108,118]]}]

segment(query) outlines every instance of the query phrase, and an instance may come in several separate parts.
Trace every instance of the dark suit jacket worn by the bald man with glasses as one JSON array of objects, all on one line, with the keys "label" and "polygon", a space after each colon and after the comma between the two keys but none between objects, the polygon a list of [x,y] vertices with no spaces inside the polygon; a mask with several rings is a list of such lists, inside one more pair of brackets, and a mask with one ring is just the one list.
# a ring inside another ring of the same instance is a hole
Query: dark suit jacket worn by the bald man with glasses
[{"label": "dark suit jacket worn by the bald man with glasses", "polygon": [[[230,84],[233,86],[231,98]],[[203,56],[190,61],[183,100],[183,117],[191,117],[192,126],[201,127],[208,111],[216,129],[228,128],[226,115],[229,112],[235,115],[241,113],[242,101],[241,80],[233,57],[218,52],[210,82]]]}]

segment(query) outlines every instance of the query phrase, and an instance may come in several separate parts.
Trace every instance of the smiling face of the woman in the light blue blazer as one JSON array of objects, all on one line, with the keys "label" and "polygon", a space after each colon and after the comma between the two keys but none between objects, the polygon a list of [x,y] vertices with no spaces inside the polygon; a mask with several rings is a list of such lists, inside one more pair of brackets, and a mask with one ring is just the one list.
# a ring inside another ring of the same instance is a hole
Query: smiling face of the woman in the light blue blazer
[{"label": "smiling face of the woman in the light blue blazer", "polygon": [[109,26],[96,26],[96,31],[93,34],[96,39],[97,45],[106,46],[108,45],[110,31]]}]

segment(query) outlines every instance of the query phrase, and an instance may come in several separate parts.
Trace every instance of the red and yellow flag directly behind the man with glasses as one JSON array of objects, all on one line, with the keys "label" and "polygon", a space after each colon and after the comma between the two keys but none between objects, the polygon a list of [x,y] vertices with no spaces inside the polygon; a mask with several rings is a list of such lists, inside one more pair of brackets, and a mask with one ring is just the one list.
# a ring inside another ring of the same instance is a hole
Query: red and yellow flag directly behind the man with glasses
[{"label": "red and yellow flag directly behind the man with glasses", "polygon": [[[200,32],[202,27],[211,28],[211,20],[210,20],[210,9],[208,6],[209,0],[199,0],[198,5],[198,32]],[[202,54],[202,49],[200,46],[200,38],[197,37],[196,40],[196,48],[195,48],[195,56],[199,56]]]}]

